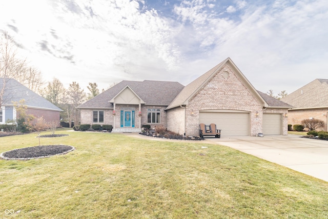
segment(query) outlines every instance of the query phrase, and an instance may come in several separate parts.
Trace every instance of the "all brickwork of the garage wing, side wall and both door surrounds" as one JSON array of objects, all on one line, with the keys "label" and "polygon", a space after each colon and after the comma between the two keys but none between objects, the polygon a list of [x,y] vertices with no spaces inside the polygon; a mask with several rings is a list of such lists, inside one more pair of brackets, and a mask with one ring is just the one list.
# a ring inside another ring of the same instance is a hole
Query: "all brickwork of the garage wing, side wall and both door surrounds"
[{"label": "all brickwork of the garage wing, side wall and both door surrounds", "polygon": [[[227,72],[229,76],[227,77]],[[284,115],[288,109],[267,108],[228,64],[224,65],[210,81],[190,100],[185,109],[177,107],[168,110],[168,130],[186,135],[199,135],[199,111],[202,110],[240,110],[250,112],[250,134],[262,133],[263,112]],[[258,116],[256,116],[258,112]],[[288,134],[287,118],[283,119],[282,134]],[[183,131],[184,130],[184,131]]]}]

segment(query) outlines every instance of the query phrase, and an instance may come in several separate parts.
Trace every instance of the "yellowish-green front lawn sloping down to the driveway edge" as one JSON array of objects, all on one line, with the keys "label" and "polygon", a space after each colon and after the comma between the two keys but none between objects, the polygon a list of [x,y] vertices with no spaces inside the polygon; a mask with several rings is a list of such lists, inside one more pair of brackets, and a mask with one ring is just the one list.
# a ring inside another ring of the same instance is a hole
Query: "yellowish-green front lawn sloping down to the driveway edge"
[{"label": "yellowish-green front lawn sloping down to the driveway edge", "polygon": [[[70,135],[41,144],[76,150],[0,160],[0,218],[328,218],[327,182],[228,147],[56,133]],[[0,152],[35,136],[1,137]]]}]

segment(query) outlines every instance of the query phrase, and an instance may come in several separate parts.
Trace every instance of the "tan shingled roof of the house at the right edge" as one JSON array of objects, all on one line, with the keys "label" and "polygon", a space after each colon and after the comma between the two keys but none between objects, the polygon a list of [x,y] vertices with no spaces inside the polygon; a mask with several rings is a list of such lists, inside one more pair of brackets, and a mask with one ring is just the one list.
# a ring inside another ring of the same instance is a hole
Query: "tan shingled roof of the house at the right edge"
[{"label": "tan shingled roof of the house at the right edge", "polygon": [[328,79],[317,78],[283,97],[281,101],[297,108],[328,108]]}]

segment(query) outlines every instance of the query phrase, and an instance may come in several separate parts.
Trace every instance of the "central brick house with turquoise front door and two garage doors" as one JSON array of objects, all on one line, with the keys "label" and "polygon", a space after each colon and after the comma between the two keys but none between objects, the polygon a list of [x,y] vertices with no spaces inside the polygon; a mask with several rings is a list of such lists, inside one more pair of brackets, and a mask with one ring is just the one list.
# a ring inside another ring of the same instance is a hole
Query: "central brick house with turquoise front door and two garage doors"
[{"label": "central brick house with turquoise front door and two garage doors", "polygon": [[122,81],[78,106],[81,124],[113,125],[113,132],[140,132],[142,125],[199,135],[199,123],[215,123],[222,135],[283,134],[292,106],[261,93],[230,58],[195,81]]}]

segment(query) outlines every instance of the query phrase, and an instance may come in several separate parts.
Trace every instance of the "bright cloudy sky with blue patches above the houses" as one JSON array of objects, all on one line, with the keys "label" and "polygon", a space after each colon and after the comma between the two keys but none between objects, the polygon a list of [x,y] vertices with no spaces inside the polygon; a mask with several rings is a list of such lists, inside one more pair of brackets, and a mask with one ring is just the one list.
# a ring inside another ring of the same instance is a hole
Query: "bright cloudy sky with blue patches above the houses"
[{"label": "bright cloudy sky with blue patches above the houses", "polygon": [[291,93],[328,78],[327,23],[326,0],[0,1],[0,32],[19,55],[45,82],[86,92],[89,82],[188,85],[230,57],[255,89]]}]

